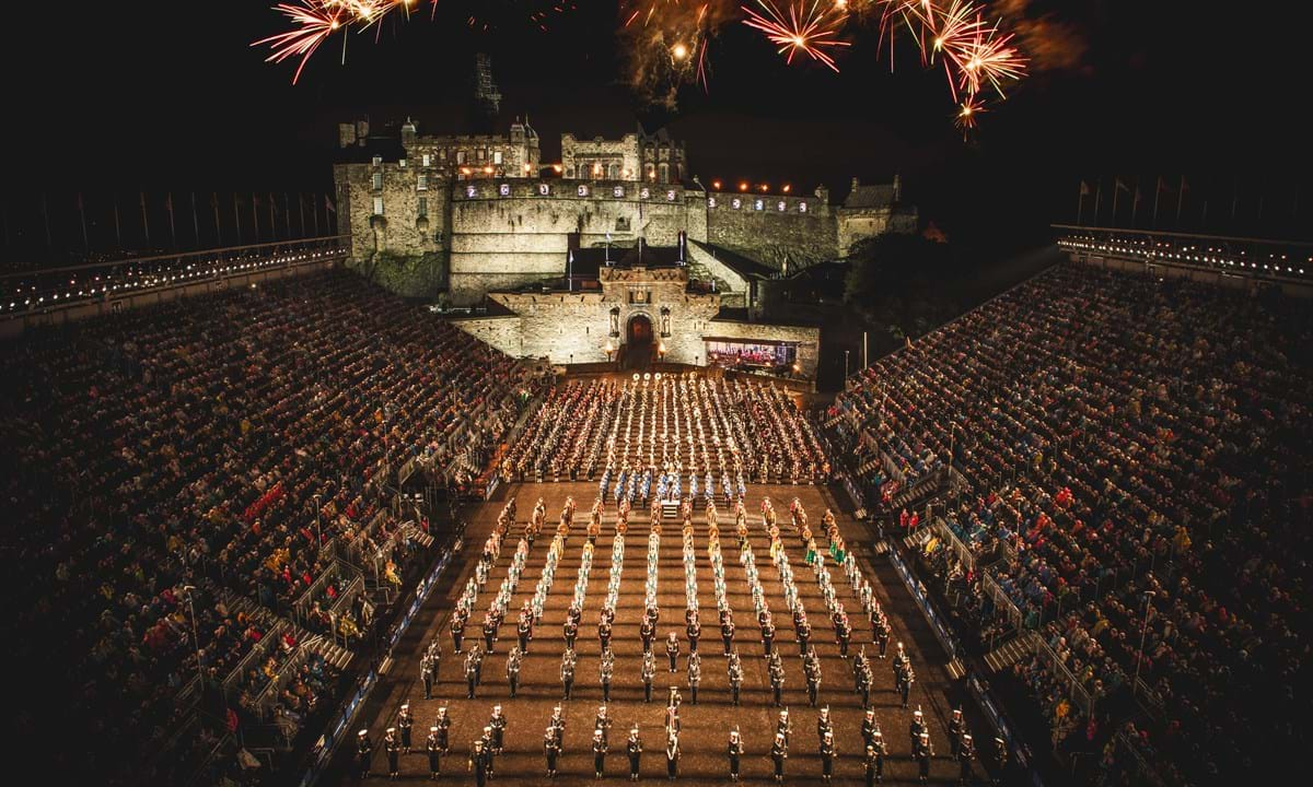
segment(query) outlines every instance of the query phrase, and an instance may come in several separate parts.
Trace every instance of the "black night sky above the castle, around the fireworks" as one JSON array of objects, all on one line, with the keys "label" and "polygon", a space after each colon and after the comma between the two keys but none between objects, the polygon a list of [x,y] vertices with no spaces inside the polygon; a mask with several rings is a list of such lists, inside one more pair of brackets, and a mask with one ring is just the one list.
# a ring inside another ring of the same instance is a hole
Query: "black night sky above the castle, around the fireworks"
[{"label": "black night sky above the castle, around the fireworks", "polygon": [[[853,176],[899,172],[923,218],[978,248],[1045,241],[1049,222],[1075,218],[1081,177],[1091,189],[1103,177],[1107,223],[1115,173],[1132,188],[1140,178],[1141,226],[1157,176],[1175,188],[1186,173],[1184,228],[1310,235],[1313,193],[1299,193],[1310,163],[1306,101],[1292,89],[1308,72],[1293,45],[1297,21],[1197,3],[1002,5],[1050,30],[1057,22],[1060,34],[1043,37],[1049,49],[1036,64],[1045,68],[964,143],[943,72],[922,70],[905,47],[890,75],[873,31],[853,37],[835,75],[786,67],[758,33],[729,25],[713,43],[710,92],[685,88],[666,110],[625,85],[608,0],[580,0],[549,33],[513,17],[492,33],[429,22],[427,12],[398,17],[377,45],[373,34],[353,35],[345,67],[334,38],[295,87],[293,66],[268,66],[265,50],[248,46],[285,29],[265,3],[41,4],[28,13],[45,18],[11,24],[3,55],[7,104],[17,109],[7,123],[17,132],[7,220],[16,237],[34,236],[38,190],[59,205],[77,190],[327,190],[339,121],[368,114],[377,129],[410,114],[421,132],[469,127],[474,52],[486,51],[503,93],[502,130],[528,114],[548,161],[561,131],[614,136],[641,119],[687,142],[702,182],[750,178],[794,192],[825,182],[842,198]],[[1163,194],[1159,224],[1174,223],[1173,199]],[[1121,223],[1129,203],[1123,193]],[[1092,198],[1086,210],[1088,220]]]}]

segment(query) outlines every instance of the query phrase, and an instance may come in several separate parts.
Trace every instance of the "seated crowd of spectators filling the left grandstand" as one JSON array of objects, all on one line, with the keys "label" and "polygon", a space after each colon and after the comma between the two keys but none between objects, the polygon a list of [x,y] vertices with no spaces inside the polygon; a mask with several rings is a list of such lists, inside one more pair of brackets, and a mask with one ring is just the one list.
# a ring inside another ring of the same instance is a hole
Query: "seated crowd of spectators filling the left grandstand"
[{"label": "seated crowd of spectators filling the left grandstand", "polygon": [[[35,329],[0,375],[9,641],[60,676],[70,696],[34,707],[85,723],[70,758],[108,779],[169,737],[196,676],[217,686],[289,613],[320,543],[387,536],[365,533],[387,472],[420,459],[458,481],[470,435],[513,424],[523,373],[337,270]],[[306,658],[280,712],[302,716],[330,673]]]}]

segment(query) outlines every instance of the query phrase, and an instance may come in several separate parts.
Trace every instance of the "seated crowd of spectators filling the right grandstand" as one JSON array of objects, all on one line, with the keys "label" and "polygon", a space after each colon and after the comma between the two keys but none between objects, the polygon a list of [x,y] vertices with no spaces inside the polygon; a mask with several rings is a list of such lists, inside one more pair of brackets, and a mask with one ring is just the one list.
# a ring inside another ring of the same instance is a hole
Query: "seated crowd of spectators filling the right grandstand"
[{"label": "seated crowd of spectators filling the right grandstand", "polygon": [[1002,555],[973,586],[997,582],[1062,665],[1015,668],[1056,745],[1136,699],[1154,719],[1138,736],[1199,780],[1300,746],[1310,313],[1061,265],[878,361],[827,413],[867,483],[886,481],[880,455],[961,474],[948,523]]}]

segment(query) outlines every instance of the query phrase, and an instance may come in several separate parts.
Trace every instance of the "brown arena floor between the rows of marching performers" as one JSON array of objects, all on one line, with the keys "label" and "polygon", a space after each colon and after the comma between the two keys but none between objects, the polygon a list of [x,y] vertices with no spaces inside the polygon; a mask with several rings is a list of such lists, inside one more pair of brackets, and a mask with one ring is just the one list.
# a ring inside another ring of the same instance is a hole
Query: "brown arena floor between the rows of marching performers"
[{"label": "brown arena floor between the rows of marching performers", "polygon": [[[588,509],[596,498],[596,484],[591,483],[511,484],[509,487],[500,488],[494,500],[474,506],[469,512],[466,546],[463,555],[460,556],[463,559],[463,564],[435,590],[427,603],[427,609],[416,619],[412,631],[398,645],[395,664],[389,676],[383,679],[376,691],[376,696],[372,698],[372,702],[364,708],[360,716],[360,721],[368,723],[370,737],[374,741],[374,759],[368,783],[381,784],[389,780],[386,775],[387,758],[382,746],[383,731],[394,725],[397,712],[402,703],[406,702],[410,703],[415,717],[412,740],[415,749],[411,754],[402,754],[400,757],[400,780],[428,780],[428,757],[423,750],[424,738],[428,735],[431,720],[437,714],[437,708],[446,704],[449,706],[448,714],[452,717],[450,754],[442,758],[442,775],[440,780],[473,783],[473,774],[466,769],[470,746],[482,733],[492,706],[500,703],[508,720],[507,746],[506,752],[496,758],[495,778],[492,782],[498,784],[548,783],[545,778],[542,738],[553,707],[561,703],[566,717],[565,754],[558,762],[555,783],[583,784],[593,782],[592,723],[597,706],[601,704],[601,686],[597,682],[600,645],[596,636],[596,622],[599,610],[605,599],[611,567],[611,544],[614,535],[613,505],[608,506],[608,517],[604,519],[603,534],[597,539],[593,555],[583,619],[575,643],[578,653],[575,685],[572,699],[569,702],[562,700],[559,665],[561,653],[565,649],[562,624],[566,609],[572,597],[580,555],[586,543],[584,529]],[[466,699],[462,658],[454,656],[452,652],[450,632],[446,623],[456,597],[463,588],[466,577],[473,572],[478,551],[491,531],[498,513],[511,494],[516,496],[517,518],[520,522],[507,535],[502,555],[490,572],[487,585],[479,593],[475,613],[471,615],[470,624],[466,628],[466,649],[481,636],[483,611],[487,610],[487,605],[495,597],[502,578],[506,576],[511,556],[515,552],[515,544],[523,529],[523,521],[533,510],[534,501],[540,496],[546,502],[548,526],[544,527],[544,534],[534,542],[529,552],[520,584],[508,606],[507,620],[502,627],[502,637],[496,643],[494,653],[484,660],[483,682],[477,698]],[[548,547],[551,542],[551,525],[558,518],[562,505],[570,494],[574,496],[578,505],[575,529],[566,542],[565,552],[557,565],[551,592],[545,603],[542,620],[534,628],[534,637],[529,648],[530,652],[524,658],[519,693],[515,699],[511,699],[506,682],[506,656],[515,644],[515,620],[523,602],[533,595],[538,576],[542,572]],[[842,510],[840,505],[836,505],[836,500],[830,489],[825,487],[759,484],[748,487],[747,506],[752,550],[756,555],[762,585],[768,595],[777,627],[776,647],[780,648],[784,656],[786,670],[784,702],[790,708],[793,735],[790,737],[789,759],[785,767],[785,780],[788,783],[819,783],[821,758],[817,752],[815,737],[817,710],[807,706],[806,682],[802,676],[802,662],[798,658],[798,647],[793,639],[793,623],[784,605],[779,575],[769,560],[768,538],[760,526],[759,512],[764,497],[772,498],[776,510],[780,513],[781,527],[788,521],[788,506],[793,497],[802,500],[809,518],[814,522],[821,521],[821,515],[826,508],[835,510],[836,515],[839,515],[840,529],[844,533],[846,540],[855,551],[864,576],[876,588],[877,598],[884,605],[893,626],[893,639],[889,647],[890,658],[873,661],[874,690],[872,691],[872,699],[876,707],[876,717],[881,723],[889,746],[889,758],[885,762],[885,783],[916,783],[916,763],[911,758],[911,741],[907,736],[907,728],[911,721],[911,712],[918,704],[922,706],[930,724],[931,740],[936,753],[931,769],[931,782],[957,783],[958,765],[949,758],[947,725],[951,708],[955,704],[960,704],[961,699],[952,693],[953,689],[949,677],[944,670],[947,657],[886,559],[876,556],[865,525],[855,522],[850,512]],[[660,540],[658,603],[662,610],[662,619],[654,644],[658,670],[653,685],[653,702],[650,704],[642,702],[643,687],[639,677],[642,641],[638,636],[638,623],[642,615],[643,584],[646,580],[649,515],[646,510],[635,509],[632,513],[626,534],[620,603],[612,637],[612,648],[616,653],[616,673],[612,681],[612,700],[608,707],[608,714],[613,719],[613,727],[608,736],[611,754],[607,758],[607,779],[628,779],[629,762],[625,756],[625,740],[628,738],[630,725],[635,721],[641,728],[643,741],[642,778],[645,780],[666,778],[663,716],[668,686],[674,685],[679,687],[683,695],[680,710],[683,721],[680,748],[683,756],[680,758],[679,778],[681,783],[709,784],[729,782],[725,746],[729,738],[729,729],[734,725],[739,727],[744,742],[742,779],[763,783],[772,780],[773,771],[768,754],[779,711],[771,703],[771,686],[767,678],[764,651],[752,613],[751,594],[747,588],[746,576],[739,564],[739,548],[738,539],[734,535],[733,518],[727,517],[726,513],[722,513],[721,518],[722,522],[726,518],[729,519],[729,525],[722,526],[721,530],[721,554],[726,572],[727,601],[735,613],[735,624],[738,627],[735,647],[742,657],[744,672],[741,706],[734,707],[730,703],[729,679],[722,655],[723,647],[720,627],[716,622],[712,568],[705,551],[706,523],[705,517],[700,513],[695,515],[699,569],[697,592],[704,616],[704,634],[699,648],[702,653],[702,682],[699,689],[699,702],[696,706],[691,704],[685,679],[688,641],[683,631],[685,599],[681,539],[678,523],[672,526],[670,522],[666,523]],[[851,593],[847,578],[840,571],[832,569],[831,578],[835,582],[835,589],[853,622],[850,660],[846,662],[839,656],[839,645],[834,639],[834,628],[826,615],[821,589],[815,582],[814,575],[804,563],[804,552],[797,539],[786,538],[785,543],[789,561],[794,567],[794,578],[798,582],[800,595],[811,620],[811,643],[822,658],[823,678],[818,706],[829,704],[834,719],[835,741],[839,752],[834,779],[840,783],[856,783],[864,779],[865,774],[860,735],[863,711],[860,696],[853,693],[853,678],[850,664],[852,656],[856,655],[857,648],[863,643],[868,643],[867,651],[869,656],[877,653],[876,647],[869,644],[872,641],[869,620],[863,615],[860,602]],[[671,674],[667,672],[668,661],[662,640],[675,627],[678,627],[680,639],[680,658],[679,672]],[[424,686],[419,679],[419,655],[424,644],[435,636],[439,636],[442,644],[440,685],[435,687],[433,699],[425,700]],[[899,640],[903,641],[916,672],[916,683],[913,686],[910,708],[906,711],[901,708],[901,700],[894,691],[893,682],[892,656],[894,643]],[[990,748],[989,741],[991,736],[987,735],[985,727],[974,719],[974,714],[970,711],[968,711],[968,720],[972,723],[970,729],[976,736],[977,749],[983,753]],[[357,782],[355,765],[345,765],[355,757],[353,744],[355,738],[348,736],[348,740],[341,746],[343,750],[337,753],[337,762],[341,762],[344,766],[335,769],[336,773],[334,775],[340,774],[337,783],[352,784]],[[977,779],[987,779],[982,763],[977,762],[974,770]]]}]

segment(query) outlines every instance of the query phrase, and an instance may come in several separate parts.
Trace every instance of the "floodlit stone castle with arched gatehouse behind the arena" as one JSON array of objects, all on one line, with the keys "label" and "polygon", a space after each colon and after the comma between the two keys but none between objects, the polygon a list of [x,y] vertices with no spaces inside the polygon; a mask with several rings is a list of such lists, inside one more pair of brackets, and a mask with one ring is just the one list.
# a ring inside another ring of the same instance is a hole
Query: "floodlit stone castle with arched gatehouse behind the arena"
[{"label": "floodlit stone castle with arched gatehouse behind the arena", "polygon": [[737,354],[810,376],[817,329],[755,321],[760,282],[918,223],[897,176],[853,178],[842,205],[825,186],[802,195],[702,184],[664,130],[562,134],[554,163],[519,119],[506,135],[460,136],[421,135],[407,121],[399,136],[379,138],[365,122],[343,123],[339,142],[334,177],[352,262],[366,273],[402,266],[385,283],[404,295],[445,289],[452,304],[506,312],[466,329],[557,363],[632,361],[635,340],[660,325],[643,362]]}]

